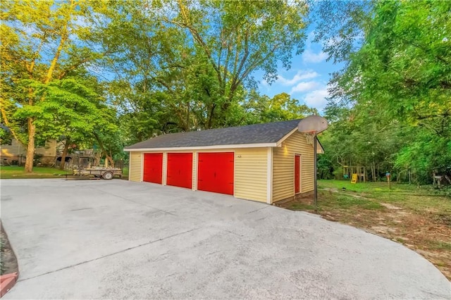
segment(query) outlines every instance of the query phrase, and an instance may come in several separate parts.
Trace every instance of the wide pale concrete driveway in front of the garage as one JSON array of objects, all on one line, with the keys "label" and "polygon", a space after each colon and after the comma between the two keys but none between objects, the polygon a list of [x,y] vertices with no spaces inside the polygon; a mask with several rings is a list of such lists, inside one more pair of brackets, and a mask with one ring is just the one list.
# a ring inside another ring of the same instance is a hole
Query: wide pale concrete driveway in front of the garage
[{"label": "wide pale concrete driveway in front of the garage", "polygon": [[419,254],[316,215],[124,180],[0,185],[5,299],[451,298]]}]

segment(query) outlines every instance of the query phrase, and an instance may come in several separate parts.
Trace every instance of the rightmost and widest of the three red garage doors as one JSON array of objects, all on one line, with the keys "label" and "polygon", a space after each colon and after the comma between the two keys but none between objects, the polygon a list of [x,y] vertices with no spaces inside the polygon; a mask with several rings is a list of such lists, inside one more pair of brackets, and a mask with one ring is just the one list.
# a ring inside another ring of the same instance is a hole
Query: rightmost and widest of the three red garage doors
[{"label": "rightmost and widest of the three red garage doors", "polygon": [[233,195],[233,152],[199,153],[197,189]]}]

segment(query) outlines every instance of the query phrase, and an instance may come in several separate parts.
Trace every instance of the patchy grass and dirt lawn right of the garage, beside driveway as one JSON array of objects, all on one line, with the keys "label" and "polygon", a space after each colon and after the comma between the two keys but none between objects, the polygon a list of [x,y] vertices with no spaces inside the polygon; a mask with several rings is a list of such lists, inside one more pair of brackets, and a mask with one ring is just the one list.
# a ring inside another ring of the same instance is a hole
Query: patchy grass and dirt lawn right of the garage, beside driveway
[{"label": "patchy grass and dirt lawn right of the garage, beside driveway", "polygon": [[319,213],[327,220],[362,228],[417,251],[451,280],[451,197],[430,187],[387,182],[351,184],[319,180],[319,210],[313,198],[279,204]]}]

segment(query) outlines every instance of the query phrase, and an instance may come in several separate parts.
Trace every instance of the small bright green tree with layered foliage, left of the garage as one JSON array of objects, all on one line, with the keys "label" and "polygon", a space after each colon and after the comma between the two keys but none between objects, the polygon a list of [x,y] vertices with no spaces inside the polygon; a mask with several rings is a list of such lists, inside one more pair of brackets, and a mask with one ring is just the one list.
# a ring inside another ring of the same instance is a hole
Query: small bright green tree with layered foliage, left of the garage
[{"label": "small bright green tree with layered foliage, left of the garage", "polygon": [[35,105],[40,111],[35,121],[38,136],[59,140],[64,145],[61,170],[71,145],[92,145],[93,132],[113,123],[111,118],[105,118],[108,106],[97,78],[87,73],[71,74],[48,85],[37,83],[33,89],[38,97],[46,98]]}]

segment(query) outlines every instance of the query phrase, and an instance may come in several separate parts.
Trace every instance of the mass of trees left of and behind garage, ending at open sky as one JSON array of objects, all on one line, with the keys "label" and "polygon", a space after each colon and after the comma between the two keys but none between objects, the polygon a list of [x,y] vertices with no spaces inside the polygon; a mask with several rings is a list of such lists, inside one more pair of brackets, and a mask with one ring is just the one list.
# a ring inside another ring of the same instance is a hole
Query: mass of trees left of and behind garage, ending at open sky
[{"label": "mass of trees left of and behind garage, ending at open sky", "polygon": [[6,1],[2,123],[30,172],[37,139],[112,162],[154,135],[299,117],[313,110],[259,95],[252,74],[290,67],[307,13],[304,1]]}]

